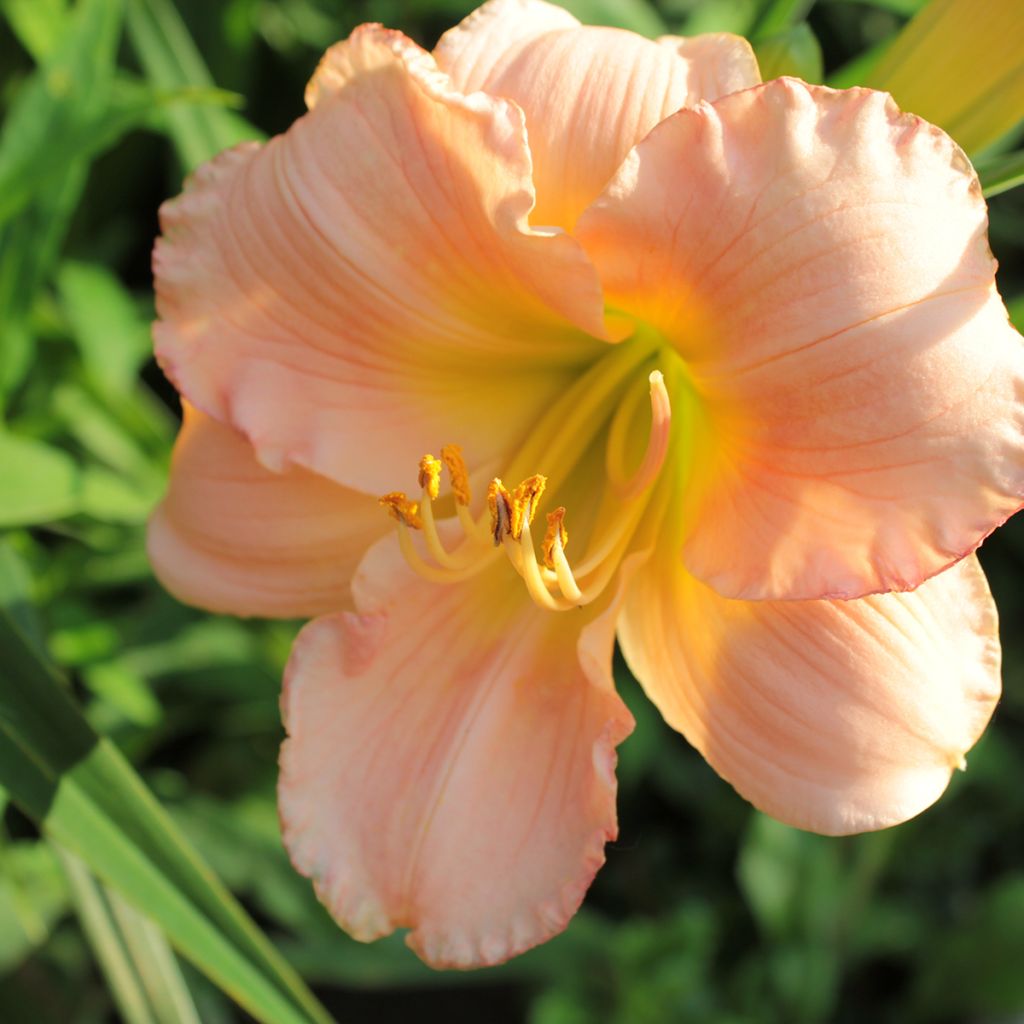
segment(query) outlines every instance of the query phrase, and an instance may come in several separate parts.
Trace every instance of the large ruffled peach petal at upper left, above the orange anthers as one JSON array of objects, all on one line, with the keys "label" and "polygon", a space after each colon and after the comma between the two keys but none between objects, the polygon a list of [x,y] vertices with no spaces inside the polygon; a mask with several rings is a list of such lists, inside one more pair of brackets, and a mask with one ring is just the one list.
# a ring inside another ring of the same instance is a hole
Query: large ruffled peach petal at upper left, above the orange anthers
[{"label": "large ruffled peach petal at upper left, above the orange anthers", "polygon": [[158,357],[270,468],[379,493],[449,441],[478,465],[603,348],[593,267],[527,225],[522,113],[374,26],[309,98],[163,208]]}]

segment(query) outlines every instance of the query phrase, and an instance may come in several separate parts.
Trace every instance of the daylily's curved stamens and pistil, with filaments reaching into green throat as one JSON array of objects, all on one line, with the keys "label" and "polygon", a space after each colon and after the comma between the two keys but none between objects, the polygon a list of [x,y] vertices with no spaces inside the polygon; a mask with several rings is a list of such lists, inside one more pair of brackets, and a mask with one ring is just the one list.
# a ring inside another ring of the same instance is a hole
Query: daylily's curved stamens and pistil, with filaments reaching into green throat
[{"label": "daylily's curved stamens and pistil, with filaments reaching into green throat", "polygon": [[[568,531],[564,507],[547,513],[540,558],[535,547],[531,526],[548,477],[532,473],[511,489],[495,477],[486,488],[485,508],[474,515],[462,450],[457,444],[446,444],[440,451],[440,459],[424,455],[420,460],[419,501],[411,500],[402,492],[392,492],[380,499],[397,523],[398,543],[412,568],[434,583],[456,583],[492,565],[504,551],[530,597],[542,608],[566,611],[600,597],[634,541],[670,450],[673,436],[670,387],[662,370],[649,369],[655,359],[664,364],[671,378],[676,376],[678,356],[662,349],[659,339],[646,332],[613,346],[545,411],[510,465],[510,470],[518,475],[522,467],[536,465],[543,459],[546,466],[558,469],[564,479],[607,423],[604,477],[587,481],[588,492],[591,485],[598,490],[595,500],[601,502],[601,511],[591,530],[586,554],[574,567],[565,554]],[[643,389],[635,385],[645,369],[649,371],[650,427],[643,457],[631,470],[631,434],[644,396]],[[434,518],[434,503],[440,496],[445,470],[459,524],[454,532],[451,529],[454,524],[442,524],[447,544]],[[414,534],[422,538],[422,548],[414,540]]]}]

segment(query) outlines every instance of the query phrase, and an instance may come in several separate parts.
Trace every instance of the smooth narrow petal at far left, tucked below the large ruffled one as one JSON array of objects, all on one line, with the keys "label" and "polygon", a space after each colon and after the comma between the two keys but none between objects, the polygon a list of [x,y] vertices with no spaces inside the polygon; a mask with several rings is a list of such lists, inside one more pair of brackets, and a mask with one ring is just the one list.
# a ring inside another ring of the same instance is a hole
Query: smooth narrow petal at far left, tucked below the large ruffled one
[{"label": "smooth narrow petal at far left, tucked below the large ruffled one", "polygon": [[298,617],[346,607],[359,559],[391,525],[366,495],[297,467],[264,469],[241,434],[186,406],[147,541],[181,600]]}]

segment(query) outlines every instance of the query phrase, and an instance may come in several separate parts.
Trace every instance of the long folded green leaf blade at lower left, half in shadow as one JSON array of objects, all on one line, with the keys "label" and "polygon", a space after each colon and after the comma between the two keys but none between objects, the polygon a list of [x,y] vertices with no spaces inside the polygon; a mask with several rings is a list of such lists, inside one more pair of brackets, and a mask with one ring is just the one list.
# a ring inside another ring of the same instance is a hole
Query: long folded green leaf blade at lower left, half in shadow
[{"label": "long folded green leaf blade at lower left, half in shadow", "polygon": [[329,1021],[4,611],[0,652],[0,785],[10,798],[257,1020]]}]

